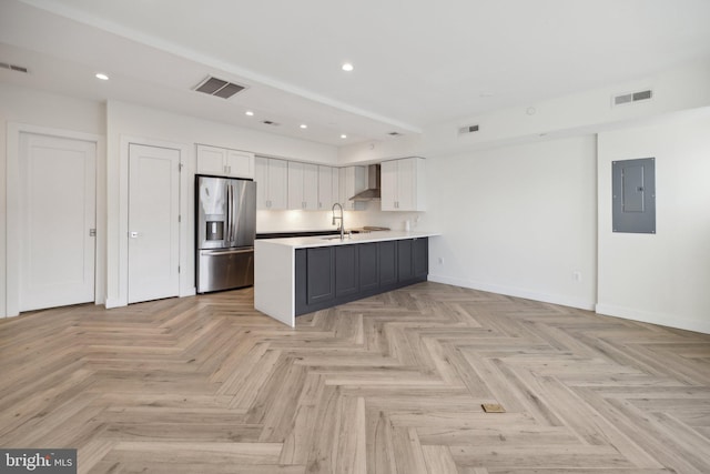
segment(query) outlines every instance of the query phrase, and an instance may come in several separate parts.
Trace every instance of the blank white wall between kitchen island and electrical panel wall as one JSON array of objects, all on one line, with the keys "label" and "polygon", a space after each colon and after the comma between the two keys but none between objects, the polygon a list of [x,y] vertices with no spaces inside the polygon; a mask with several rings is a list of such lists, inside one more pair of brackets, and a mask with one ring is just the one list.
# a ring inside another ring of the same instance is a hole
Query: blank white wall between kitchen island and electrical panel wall
[{"label": "blank white wall between kitchen island and electrical panel wall", "polygon": [[433,191],[423,225],[443,233],[430,240],[429,280],[594,309],[594,135],[430,158],[426,164]]}]

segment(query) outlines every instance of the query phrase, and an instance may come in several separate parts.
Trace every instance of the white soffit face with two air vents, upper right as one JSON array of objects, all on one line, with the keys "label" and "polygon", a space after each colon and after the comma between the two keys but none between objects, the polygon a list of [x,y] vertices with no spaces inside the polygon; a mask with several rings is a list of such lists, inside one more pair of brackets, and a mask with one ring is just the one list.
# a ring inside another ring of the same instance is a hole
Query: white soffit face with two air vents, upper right
[{"label": "white soffit face with two air vents, upper right", "polygon": [[[653,98],[628,105],[611,107],[613,95],[651,89]],[[465,150],[509,145],[548,137],[597,133],[668,113],[710,105],[710,60],[680,64],[657,74],[606,88],[581,91],[536,103],[495,110],[428,127],[422,150],[430,154],[454,154]],[[462,125],[480,130],[458,134]]]}]

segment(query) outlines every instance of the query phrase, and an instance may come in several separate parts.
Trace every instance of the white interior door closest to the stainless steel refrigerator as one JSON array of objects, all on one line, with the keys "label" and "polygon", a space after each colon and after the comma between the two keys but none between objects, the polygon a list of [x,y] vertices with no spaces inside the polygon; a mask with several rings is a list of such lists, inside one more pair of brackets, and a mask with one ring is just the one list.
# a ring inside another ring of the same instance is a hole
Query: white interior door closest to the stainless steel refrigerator
[{"label": "white interior door closest to the stainless steel refrigerator", "polygon": [[130,144],[129,303],[180,293],[180,150]]}]

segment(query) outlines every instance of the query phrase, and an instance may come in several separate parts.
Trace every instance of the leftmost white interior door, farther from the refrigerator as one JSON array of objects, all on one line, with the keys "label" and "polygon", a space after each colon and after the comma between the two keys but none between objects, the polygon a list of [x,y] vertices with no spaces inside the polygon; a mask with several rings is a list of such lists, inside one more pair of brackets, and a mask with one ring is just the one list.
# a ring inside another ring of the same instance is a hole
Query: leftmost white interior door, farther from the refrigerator
[{"label": "leftmost white interior door, farther from the refrigerator", "polygon": [[20,134],[20,311],[94,301],[97,144]]}]

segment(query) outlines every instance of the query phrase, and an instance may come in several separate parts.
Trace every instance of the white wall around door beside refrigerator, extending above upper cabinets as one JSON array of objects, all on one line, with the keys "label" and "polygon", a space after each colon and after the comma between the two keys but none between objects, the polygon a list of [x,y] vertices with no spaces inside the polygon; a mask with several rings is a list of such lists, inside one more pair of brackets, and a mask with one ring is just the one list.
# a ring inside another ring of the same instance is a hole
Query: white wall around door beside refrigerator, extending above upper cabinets
[{"label": "white wall around door beside refrigerator, extending above upper cabinets", "polygon": [[[136,141],[181,150],[180,294],[194,293],[194,185],[195,143],[251,151],[262,155],[335,164],[337,149],[305,140],[239,129],[193,117],[178,115],[119,101],[106,105],[106,305],[128,303],[128,142]],[[323,213],[320,213],[323,214]],[[282,228],[284,229],[284,228]],[[281,229],[280,229],[281,230]]]}]

